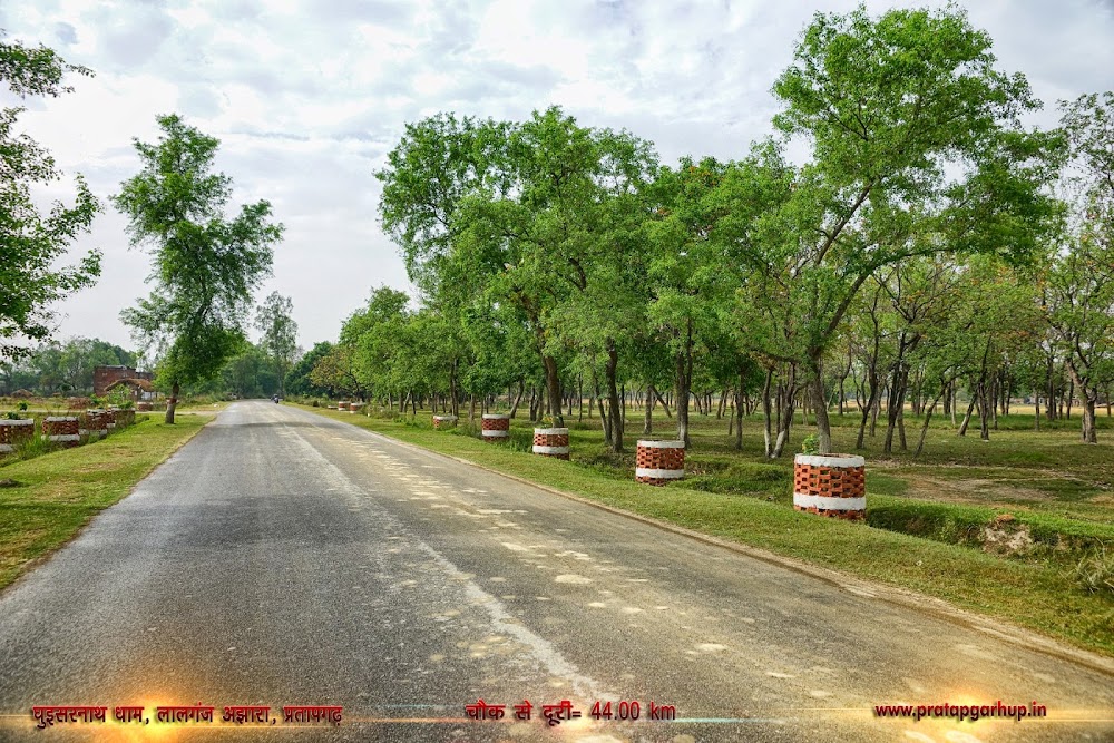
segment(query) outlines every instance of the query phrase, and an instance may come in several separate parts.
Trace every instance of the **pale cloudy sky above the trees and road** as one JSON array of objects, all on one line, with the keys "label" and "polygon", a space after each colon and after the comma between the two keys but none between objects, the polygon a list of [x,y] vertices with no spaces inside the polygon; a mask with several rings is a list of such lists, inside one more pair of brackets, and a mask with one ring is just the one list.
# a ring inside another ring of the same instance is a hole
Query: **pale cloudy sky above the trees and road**
[{"label": "pale cloudy sky above the trees and road", "polygon": [[[82,174],[105,203],[71,258],[104,253],[95,287],[60,302],[57,338],[135,343],[119,312],[148,293],[149,255],[108,204],[135,175],[133,139],[177,113],[221,140],[234,204],[271,202],[286,227],[257,294],[292,297],[305,349],[335,340],[373,287],[412,291],[379,226],[374,172],[403,127],[440,111],[521,120],[561,106],[627,129],[663,163],[745,155],[771,134],[770,89],[823,0],[0,0],[9,40],[42,43],[96,76],[21,102],[21,128],[53,155],[71,201]],[[868,2],[871,13],[940,2]],[[999,69],[1025,74],[1052,126],[1056,101],[1114,90],[1114,0],[971,0]],[[0,104],[18,99],[0,92]]]}]

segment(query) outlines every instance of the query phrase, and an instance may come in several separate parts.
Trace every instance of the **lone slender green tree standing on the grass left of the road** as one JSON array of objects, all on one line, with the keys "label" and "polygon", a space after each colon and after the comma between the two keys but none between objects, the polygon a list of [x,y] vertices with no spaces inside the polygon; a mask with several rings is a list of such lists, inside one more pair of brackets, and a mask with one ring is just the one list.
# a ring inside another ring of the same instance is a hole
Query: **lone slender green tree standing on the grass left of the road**
[{"label": "lone slender green tree standing on the grass left of the road", "polygon": [[225,219],[232,179],[211,172],[217,139],[177,115],[160,116],[158,126],[158,143],[134,140],[143,169],[113,203],[129,219],[131,244],[152,248],[155,289],[120,316],[160,351],[173,423],[180,385],[212,379],[241,350],[252,293],[271,273],[283,227],[271,223],[266,201]]}]

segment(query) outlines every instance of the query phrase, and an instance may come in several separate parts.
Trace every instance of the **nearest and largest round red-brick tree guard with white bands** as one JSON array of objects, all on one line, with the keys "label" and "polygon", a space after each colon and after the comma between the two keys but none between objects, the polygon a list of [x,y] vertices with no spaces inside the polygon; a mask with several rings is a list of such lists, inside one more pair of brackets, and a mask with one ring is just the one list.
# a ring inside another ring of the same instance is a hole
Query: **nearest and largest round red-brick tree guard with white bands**
[{"label": "nearest and largest round red-brick tree guard with white bands", "polygon": [[797,454],[793,509],[850,521],[867,518],[866,465],[854,454]]}]

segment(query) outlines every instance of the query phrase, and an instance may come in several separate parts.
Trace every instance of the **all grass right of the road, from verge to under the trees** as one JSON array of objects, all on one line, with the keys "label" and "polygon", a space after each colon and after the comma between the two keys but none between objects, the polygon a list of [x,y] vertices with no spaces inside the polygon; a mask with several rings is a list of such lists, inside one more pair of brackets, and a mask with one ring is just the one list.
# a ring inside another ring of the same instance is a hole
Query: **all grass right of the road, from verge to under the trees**
[{"label": "all grass right of the road, from verge to under the trees", "polygon": [[[881,457],[879,431],[864,452],[873,526],[863,526],[792,510],[791,452],[799,449],[800,426],[786,447],[789,453],[769,461],[758,451],[760,422],[744,423],[744,451],[734,452],[726,420],[694,417],[694,442],[686,459],[692,477],[652,488],[633,482],[633,453],[603,451],[598,421],[589,428],[578,426],[575,417],[566,419],[574,429],[574,461],[561,462],[526,453],[524,443],[532,424],[522,418],[514,421],[508,447],[469,436],[467,426],[434,431],[424,411],[418,420],[390,420],[304,409],[631,512],[935,596],[1114,656],[1114,593],[1088,592],[1076,569],[1081,550],[1114,545],[1114,506],[1102,500],[1108,497],[1114,478],[1114,449],[1110,441],[1100,447],[1077,443],[1075,429],[997,431],[985,443],[978,440],[977,430],[974,437],[968,433],[958,439],[941,426],[930,429],[920,460],[900,452]],[[627,427],[631,433],[641,431],[641,414],[628,413]],[[1114,438],[1114,431],[1104,431],[1107,439]],[[672,433],[671,421],[655,420],[655,437]],[[837,447],[850,450],[854,433],[849,419],[846,427],[837,422]],[[632,451],[636,438],[628,437]],[[1025,507],[1010,504],[1008,493],[1016,486],[1009,482],[1000,490],[960,488],[948,500],[937,501],[924,486],[929,475],[951,478],[955,485],[965,478],[952,470],[968,467],[975,467],[966,472],[968,480],[994,468],[1006,473],[1005,481],[1043,482],[1043,490],[1034,488],[1043,499],[1027,501]],[[1084,486],[1054,487],[1064,477]],[[1081,509],[1087,518],[1078,517]],[[1003,556],[980,548],[976,532],[1001,514],[1014,517],[1001,524],[1007,532],[1022,526],[1030,531],[1030,549]]]}]

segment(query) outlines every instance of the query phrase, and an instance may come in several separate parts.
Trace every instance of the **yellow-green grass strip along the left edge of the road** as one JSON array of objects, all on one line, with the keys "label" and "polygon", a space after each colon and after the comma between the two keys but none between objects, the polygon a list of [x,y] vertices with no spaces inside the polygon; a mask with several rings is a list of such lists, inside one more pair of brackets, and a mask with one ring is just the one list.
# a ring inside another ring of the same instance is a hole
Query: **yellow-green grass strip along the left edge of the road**
[{"label": "yellow-green grass strip along the left edge of the road", "polygon": [[32,560],[69,541],[98,511],[126,496],[211,420],[175,426],[143,420],[108,438],[0,468],[0,588]]}]

